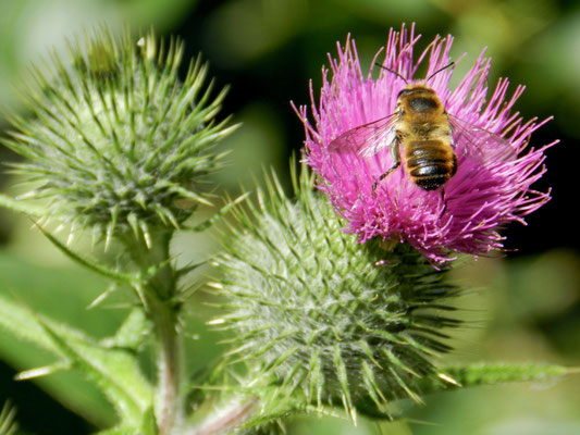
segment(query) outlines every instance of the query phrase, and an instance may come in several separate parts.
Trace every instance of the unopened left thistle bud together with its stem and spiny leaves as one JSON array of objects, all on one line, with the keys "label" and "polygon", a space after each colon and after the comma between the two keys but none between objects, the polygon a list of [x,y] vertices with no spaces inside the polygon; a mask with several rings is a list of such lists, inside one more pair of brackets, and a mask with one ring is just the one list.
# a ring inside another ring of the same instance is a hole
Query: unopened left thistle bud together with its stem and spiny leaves
[{"label": "unopened left thistle bud together with its stem and spiny leaves", "polygon": [[[214,122],[225,92],[212,101],[212,86],[202,90],[207,66],[199,59],[178,79],[183,47],[174,40],[165,46],[149,34],[134,44],[102,29],[84,45],[71,44],[70,54],[72,65],[53,55],[46,71],[34,70],[37,83],[26,97],[32,116],[13,116],[16,129],[7,140],[28,159],[12,164],[14,172],[37,187],[0,202],[69,224],[71,235],[91,229],[106,237],[106,248],[114,238],[116,253],[127,257],[113,268],[110,258],[91,258],[71,248],[71,237],[64,244],[37,225],[65,257],[112,282],[90,307],[115,286],[133,289],[137,307],[118,334],[100,341],[8,299],[0,324],[58,357],[21,380],[75,371],[114,407],[114,431],[171,434],[184,412],[180,324],[187,296],[178,281],[199,264],[176,268],[169,246],[197,206],[209,203],[200,177],[219,167],[223,154],[213,145],[235,127]],[[207,229],[242,199],[184,228]],[[158,369],[155,386],[137,360],[146,344]]]}]

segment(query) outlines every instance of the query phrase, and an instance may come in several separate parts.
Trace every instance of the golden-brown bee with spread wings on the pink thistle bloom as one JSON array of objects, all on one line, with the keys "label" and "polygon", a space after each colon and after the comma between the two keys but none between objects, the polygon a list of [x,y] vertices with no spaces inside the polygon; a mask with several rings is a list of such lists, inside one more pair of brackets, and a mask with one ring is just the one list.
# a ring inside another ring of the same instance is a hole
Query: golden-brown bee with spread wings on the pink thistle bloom
[{"label": "golden-brown bee with spread wings on the pink thistle bloom", "polygon": [[368,159],[390,147],[393,165],[373,183],[373,191],[399,166],[417,186],[429,191],[444,186],[455,175],[458,157],[483,166],[514,160],[516,152],[506,139],[447,113],[428,85],[434,75],[452,65],[412,83],[379,65],[406,83],[398,92],[395,112],[342,134],[330,144],[331,152],[354,152]]}]

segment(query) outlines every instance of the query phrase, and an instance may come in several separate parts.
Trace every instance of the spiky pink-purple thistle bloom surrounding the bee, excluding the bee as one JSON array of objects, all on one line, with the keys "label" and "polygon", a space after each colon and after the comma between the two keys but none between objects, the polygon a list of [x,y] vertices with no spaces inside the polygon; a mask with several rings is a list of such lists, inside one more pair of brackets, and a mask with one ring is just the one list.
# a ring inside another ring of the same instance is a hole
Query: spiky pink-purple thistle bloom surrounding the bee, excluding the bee
[{"label": "spiky pink-purple thistle bloom surrounding the bee, excluding the bee", "polygon": [[[414,47],[419,38],[412,26],[410,32],[405,26],[400,33],[391,29],[382,65],[417,83],[420,80],[412,77],[421,63],[428,63],[425,77],[449,63],[451,36],[435,38],[415,62]],[[333,140],[345,132],[393,114],[406,83],[385,70],[373,79],[372,66],[365,76],[350,39],[344,49],[338,45],[338,59],[330,58],[330,62],[332,77],[329,79],[329,70],[323,69],[319,104],[310,86],[313,124],[308,120],[307,107],[296,111],[306,129],[305,161],[319,176],[318,187],[346,219],[346,231],[358,234],[360,243],[377,236],[407,241],[433,262],[448,261],[453,252],[478,256],[501,249],[498,229],[513,221],[525,223],[525,215],[550,199],[548,192],[530,186],[545,172],[544,151],[556,141],[527,150],[530,135],[548,120],[525,123],[519,113],[511,113],[523,87],[518,86],[508,97],[505,78],[488,97],[490,59],[483,52],[455,90],[448,87],[453,67],[435,74],[428,85],[448,114],[503,137],[505,140],[497,138],[497,146],[511,147],[513,158],[491,157],[485,164],[478,164],[459,149],[470,144],[457,141],[457,172],[444,188],[432,191],[418,187],[404,165],[373,189],[381,174],[393,166],[391,147],[385,144],[372,157],[333,149]]]}]

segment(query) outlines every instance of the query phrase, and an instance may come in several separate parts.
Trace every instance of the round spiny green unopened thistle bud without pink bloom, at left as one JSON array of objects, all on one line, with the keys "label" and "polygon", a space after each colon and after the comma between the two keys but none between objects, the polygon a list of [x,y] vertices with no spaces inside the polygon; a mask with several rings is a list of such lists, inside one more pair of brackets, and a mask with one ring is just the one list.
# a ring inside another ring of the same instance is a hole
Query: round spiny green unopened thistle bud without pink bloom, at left
[{"label": "round spiny green unopened thistle bud without pink bloom, at left", "polygon": [[46,199],[47,215],[99,235],[180,227],[200,202],[202,175],[222,154],[213,145],[234,127],[214,123],[225,96],[203,90],[207,65],[178,77],[183,46],[135,42],[102,29],[71,44],[67,65],[54,54],[33,69],[25,92],[32,116],[13,116],[5,144],[28,159],[14,172],[39,183],[26,199]]}]

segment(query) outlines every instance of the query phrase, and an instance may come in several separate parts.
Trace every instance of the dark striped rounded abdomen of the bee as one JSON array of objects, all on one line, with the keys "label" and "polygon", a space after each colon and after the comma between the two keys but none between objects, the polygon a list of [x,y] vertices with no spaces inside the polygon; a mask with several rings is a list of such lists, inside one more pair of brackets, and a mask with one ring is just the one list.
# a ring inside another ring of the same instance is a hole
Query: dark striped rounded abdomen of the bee
[{"label": "dark striped rounded abdomen of the bee", "polygon": [[457,170],[457,156],[444,140],[412,140],[405,151],[405,165],[419,187],[434,190]]}]

